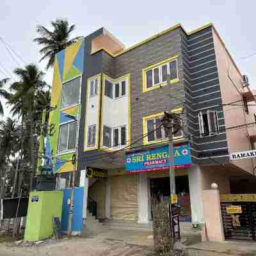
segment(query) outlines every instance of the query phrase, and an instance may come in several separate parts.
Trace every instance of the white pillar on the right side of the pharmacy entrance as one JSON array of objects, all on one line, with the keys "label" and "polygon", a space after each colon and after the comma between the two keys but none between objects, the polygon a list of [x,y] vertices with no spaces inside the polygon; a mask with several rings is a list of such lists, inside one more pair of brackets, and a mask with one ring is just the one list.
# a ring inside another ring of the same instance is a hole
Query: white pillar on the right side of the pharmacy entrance
[{"label": "white pillar on the right side of the pharmacy entrance", "polygon": [[204,224],[204,208],[202,202],[202,175],[198,165],[188,170],[189,194],[191,202],[192,223]]}]

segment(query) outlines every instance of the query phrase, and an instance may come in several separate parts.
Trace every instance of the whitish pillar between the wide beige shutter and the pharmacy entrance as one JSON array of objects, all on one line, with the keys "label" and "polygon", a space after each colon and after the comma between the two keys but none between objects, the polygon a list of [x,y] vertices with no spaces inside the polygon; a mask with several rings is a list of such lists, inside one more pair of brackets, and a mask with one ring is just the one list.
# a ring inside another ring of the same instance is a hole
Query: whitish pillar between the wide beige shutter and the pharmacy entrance
[{"label": "whitish pillar between the wide beige shutter and the pharmacy entrance", "polygon": [[148,175],[140,173],[138,179],[138,223],[148,223]]}]

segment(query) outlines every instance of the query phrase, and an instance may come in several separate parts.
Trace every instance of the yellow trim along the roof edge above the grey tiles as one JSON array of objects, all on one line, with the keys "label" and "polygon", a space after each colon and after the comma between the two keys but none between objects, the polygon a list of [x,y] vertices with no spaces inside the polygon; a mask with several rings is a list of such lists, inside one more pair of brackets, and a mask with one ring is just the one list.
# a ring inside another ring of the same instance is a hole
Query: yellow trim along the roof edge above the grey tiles
[{"label": "yellow trim along the roof edge above the grey tiles", "polygon": [[172,31],[172,30],[174,30],[174,29],[177,29],[177,28],[181,28],[181,29],[184,31],[184,33],[186,33],[186,35],[193,35],[194,33],[198,32],[198,31],[200,31],[200,30],[202,30],[202,29],[209,28],[209,27],[211,27],[211,26],[213,26],[212,23],[209,23],[209,24],[206,24],[206,25],[204,25],[204,26],[202,26],[202,27],[200,27],[200,28],[197,28],[197,29],[195,29],[195,30],[193,30],[193,31],[187,32],[187,31],[184,29],[184,27],[182,26],[182,24],[178,23],[178,24],[172,26],[171,28],[165,29],[164,31],[161,31],[160,33],[157,33],[156,35],[151,36],[150,38],[147,38],[147,39],[141,41],[141,42],[138,43],[138,44],[132,45],[131,47],[125,49],[125,50],[122,51],[122,52],[119,52],[119,53],[116,53],[116,54],[112,54],[111,52],[106,51],[106,49],[100,48],[99,50],[97,50],[97,51],[95,51],[95,52],[92,52],[92,54],[95,54],[96,52],[99,52],[99,51],[106,51],[106,52],[107,52],[109,55],[111,55],[112,57],[117,57],[117,56],[119,56],[119,55],[121,55],[121,54],[124,54],[125,52],[131,51],[132,49],[134,49],[134,48],[136,48],[136,47],[138,47],[138,46],[140,46],[140,45],[143,45],[143,44],[145,44],[145,43],[147,43],[147,42],[149,42],[149,41],[151,41],[151,40],[153,40],[153,39],[156,39],[157,37],[162,36],[162,35],[164,35],[164,34],[170,32],[170,31]]}]

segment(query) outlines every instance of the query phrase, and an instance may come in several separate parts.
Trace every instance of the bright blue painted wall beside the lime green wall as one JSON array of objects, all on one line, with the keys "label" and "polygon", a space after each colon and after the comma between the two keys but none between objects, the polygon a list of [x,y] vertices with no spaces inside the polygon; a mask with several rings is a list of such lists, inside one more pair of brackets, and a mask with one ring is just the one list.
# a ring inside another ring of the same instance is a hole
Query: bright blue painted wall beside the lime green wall
[{"label": "bright blue painted wall beside the lime green wall", "polygon": [[[75,188],[74,193],[74,212],[72,216],[72,231],[82,231],[83,226],[83,200],[84,200],[84,188]],[[62,216],[61,216],[61,230],[67,232],[68,229],[68,211],[69,206],[67,204],[68,198],[71,198],[71,189],[64,190],[63,204],[62,204]]]}]

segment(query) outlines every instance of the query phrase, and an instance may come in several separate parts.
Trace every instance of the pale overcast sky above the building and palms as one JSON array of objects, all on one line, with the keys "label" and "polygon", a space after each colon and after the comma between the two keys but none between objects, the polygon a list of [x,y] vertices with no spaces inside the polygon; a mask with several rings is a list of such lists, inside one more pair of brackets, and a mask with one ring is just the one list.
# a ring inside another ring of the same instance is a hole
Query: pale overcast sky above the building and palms
[{"label": "pale overcast sky above the building and palms", "polygon": [[[51,28],[51,20],[57,17],[76,24],[72,37],[89,35],[103,26],[126,47],[177,23],[189,32],[212,22],[241,73],[246,74],[256,88],[256,54],[252,55],[256,53],[255,9],[253,0],[1,0],[0,37],[26,63],[36,63],[45,72],[45,81],[51,84],[52,70],[46,72],[46,62],[38,62],[40,47],[33,38],[38,36],[37,25]],[[24,64],[20,61],[20,65]],[[0,42],[0,79],[10,77],[8,74],[16,67],[17,63]],[[4,108],[5,115],[0,116],[0,120],[10,115],[5,103]]]}]

